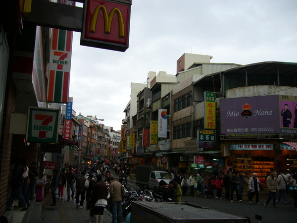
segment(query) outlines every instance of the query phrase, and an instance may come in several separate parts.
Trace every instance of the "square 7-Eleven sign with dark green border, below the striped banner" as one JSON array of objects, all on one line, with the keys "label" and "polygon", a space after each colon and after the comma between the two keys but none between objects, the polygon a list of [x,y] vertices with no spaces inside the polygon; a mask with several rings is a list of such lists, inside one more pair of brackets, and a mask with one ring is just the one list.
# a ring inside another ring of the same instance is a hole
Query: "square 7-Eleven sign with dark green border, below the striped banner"
[{"label": "square 7-Eleven sign with dark green border, below the striped banner", "polygon": [[26,142],[57,143],[59,112],[29,107]]}]

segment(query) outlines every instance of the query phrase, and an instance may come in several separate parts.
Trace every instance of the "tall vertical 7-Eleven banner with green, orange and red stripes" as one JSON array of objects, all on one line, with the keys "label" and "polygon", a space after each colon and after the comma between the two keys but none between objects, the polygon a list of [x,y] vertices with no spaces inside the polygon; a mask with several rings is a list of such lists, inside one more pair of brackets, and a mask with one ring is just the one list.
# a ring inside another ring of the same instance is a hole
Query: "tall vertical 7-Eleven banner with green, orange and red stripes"
[{"label": "tall vertical 7-Eleven banner with green, orange and red stripes", "polygon": [[68,103],[72,31],[53,29],[50,57],[48,102]]}]

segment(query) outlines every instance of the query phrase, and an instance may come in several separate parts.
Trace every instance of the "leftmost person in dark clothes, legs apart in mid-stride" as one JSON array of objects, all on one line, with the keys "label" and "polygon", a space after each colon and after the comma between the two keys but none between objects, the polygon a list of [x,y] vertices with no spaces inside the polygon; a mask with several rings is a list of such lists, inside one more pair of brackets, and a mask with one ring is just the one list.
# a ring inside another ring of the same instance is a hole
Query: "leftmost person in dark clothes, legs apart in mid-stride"
[{"label": "leftmost person in dark clothes, legs apart in mid-stride", "polygon": [[23,207],[21,211],[26,211],[28,206],[22,195],[23,174],[20,168],[20,160],[16,159],[14,164],[11,180],[8,182],[11,187],[11,193],[6,203],[6,211],[10,211],[10,207],[15,199],[19,199],[19,205]]}]

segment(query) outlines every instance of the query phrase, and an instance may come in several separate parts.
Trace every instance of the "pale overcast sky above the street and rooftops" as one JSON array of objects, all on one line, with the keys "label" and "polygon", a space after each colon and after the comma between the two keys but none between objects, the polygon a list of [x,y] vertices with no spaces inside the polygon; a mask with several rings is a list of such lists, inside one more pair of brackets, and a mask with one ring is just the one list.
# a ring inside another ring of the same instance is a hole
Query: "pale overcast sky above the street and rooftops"
[{"label": "pale overcast sky above the street and rooftops", "polygon": [[184,53],[211,62],[297,62],[296,0],[133,0],[126,52],[79,45],[73,35],[70,93],[77,115],[119,130],[130,83],[149,71],[176,74]]}]

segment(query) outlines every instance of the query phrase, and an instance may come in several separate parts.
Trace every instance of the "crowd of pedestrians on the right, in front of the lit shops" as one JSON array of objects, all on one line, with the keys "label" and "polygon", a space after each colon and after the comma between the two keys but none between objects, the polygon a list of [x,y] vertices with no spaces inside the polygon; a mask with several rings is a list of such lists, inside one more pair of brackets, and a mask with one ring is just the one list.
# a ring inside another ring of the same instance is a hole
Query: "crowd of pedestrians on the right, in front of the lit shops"
[{"label": "crowd of pedestrians on the right, in front of the lit shops", "polygon": [[[272,200],[272,206],[277,208],[277,203],[281,203],[282,195],[284,197],[284,203],[288,203],[288,193],[293,198],[293,208],[297,210],[297,169],[293,168],[287,171],[285,174],[284,170],[280,173],[270,169],[270,174],[266,178],[266,185],[268,190],[268,198],[264,202],[266,207]],[[187,174],[182,174],[174,171],[171,172],[173,180],[167,185],[165,181],[160,181],[160,186],[165,192],[166,198],[170,196],[170,201],[178,200],[178,194],[187,196],[187,191],[190,189],[189,197],[195,196],[195,188],[197,188],[196,195],[199,197],[208,197],[213,199],[222,199],[222,189],[225,188],[225,200],[234,202],[243,201],[244,192],[247,193],[249,203],[252,203],[253,197],[255,197],[255,204],[259,203],[259,193],[263,191],[263,185],[261,184],[256,173],[244,174],[241,171],[235,171],[230,169],[224,174],[214,175],[210,173],[208,176],[201,175],[198,173],[194,176],[194,173],[188,178]],[[172,188],[176,191],[173,192]],[[178,192],[178,190],[180,192]],[[235,196],[234,197],[234,193]]]}]

